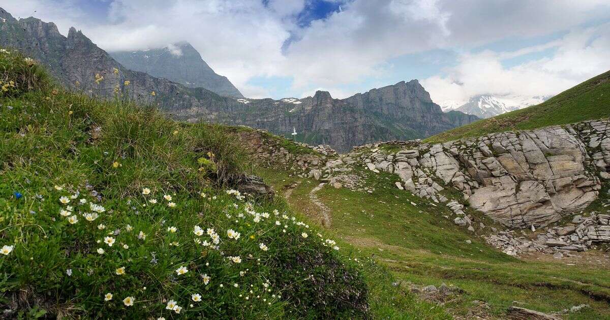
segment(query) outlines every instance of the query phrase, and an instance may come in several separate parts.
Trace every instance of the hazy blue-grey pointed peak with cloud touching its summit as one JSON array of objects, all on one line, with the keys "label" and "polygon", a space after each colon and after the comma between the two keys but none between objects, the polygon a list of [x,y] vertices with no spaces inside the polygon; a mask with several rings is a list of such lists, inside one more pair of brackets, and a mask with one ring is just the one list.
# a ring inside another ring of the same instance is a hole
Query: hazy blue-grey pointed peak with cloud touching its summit
[{"label": "hazy blue-grey pointed peak with cloud touching its summit", "polygon": [[227,77],[216,74],[190,43],[175,43],[160,49],[110,52],[127,69],[178,82],[190,88],[206,88],[221,96],[243,98]]}]

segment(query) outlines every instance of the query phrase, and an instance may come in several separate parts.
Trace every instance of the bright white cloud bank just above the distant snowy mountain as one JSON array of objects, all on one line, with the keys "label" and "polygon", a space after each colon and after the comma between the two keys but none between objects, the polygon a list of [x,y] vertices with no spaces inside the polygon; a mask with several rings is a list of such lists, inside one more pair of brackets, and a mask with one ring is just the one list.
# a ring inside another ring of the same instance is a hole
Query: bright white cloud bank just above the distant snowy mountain
[{"label": "bright white cloud bank just above the distant snowy mountain", "polygon": [[[446,76],[422,81],[439,104],[467,101],[476,94],[514,94],[524,97],[557,94],[610,69],[610,23],[573,30],[560,40],[515,52],[484,51],[462,55]],[[550,57],[504,67],[502,60],[555,48]]]}]

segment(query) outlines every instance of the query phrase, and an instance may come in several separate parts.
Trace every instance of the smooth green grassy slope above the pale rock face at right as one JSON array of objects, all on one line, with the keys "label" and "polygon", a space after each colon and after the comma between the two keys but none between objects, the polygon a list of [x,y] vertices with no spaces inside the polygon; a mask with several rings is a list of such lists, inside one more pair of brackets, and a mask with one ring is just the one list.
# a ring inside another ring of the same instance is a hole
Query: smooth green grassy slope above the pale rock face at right
[{"label": "smooth green grassy slope above the pale rock face at right", "polygon": [[481,137],[493,132],[536,129],[608,117],[610,117],[610,71],[565,90],[541,104],[476,121],[429,137],[425,141],[439,143]]}]

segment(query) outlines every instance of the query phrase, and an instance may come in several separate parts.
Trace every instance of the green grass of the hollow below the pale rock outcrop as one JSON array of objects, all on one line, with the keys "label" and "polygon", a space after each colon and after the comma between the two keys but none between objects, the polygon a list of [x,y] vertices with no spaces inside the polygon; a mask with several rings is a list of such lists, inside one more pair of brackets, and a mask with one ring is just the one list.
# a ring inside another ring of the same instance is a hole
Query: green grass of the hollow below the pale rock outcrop
[{"label": "green grass of the hollow below the pale rock outcrop", "polygon": [[[295,210],[315,214],[307,194],[317,182],[288,177],[276,170],[260,171],[278,188],[302,180],[289,202]],[[375,188],[372,194],[332,187],[318,191],[318,198],[331,210],[331,232],[390,268],[395,279],[403,283],[447,283],[461,288],[463,293],[443,305],[453,315],[466,316],[474,308],[472,301],[481,300],[490,306],[488,315],[496,318],[504,318],[511,305],[553,312],[589,304],[592,308],[567,318],[610,319],[607,268],[510,257],[484,243],[479,235],[485,232],[470,233],[454,226],[443,217],[450,214],[446,207],[434,207],[393,188],[397,180],[384,172],[375,178],[370,176],[367,185]],[[470,213],[475,215],[476,225],[484,222],[493,226],[487,219]]]}]

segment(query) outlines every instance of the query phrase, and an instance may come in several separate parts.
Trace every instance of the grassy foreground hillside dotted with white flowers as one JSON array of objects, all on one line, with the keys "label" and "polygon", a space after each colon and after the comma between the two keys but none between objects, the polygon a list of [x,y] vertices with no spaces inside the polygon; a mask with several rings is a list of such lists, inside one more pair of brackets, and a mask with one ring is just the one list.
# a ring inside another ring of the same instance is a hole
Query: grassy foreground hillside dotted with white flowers
[{"label": "grassy foreground hillside dotted with white flowers", "polygon": [[[0,307],[8,318],[377,318],[392,275],[284,201],[232,188],[224,127],[54,87],[0,51]],[[420,318],[442,308],[420,304]]]}]

